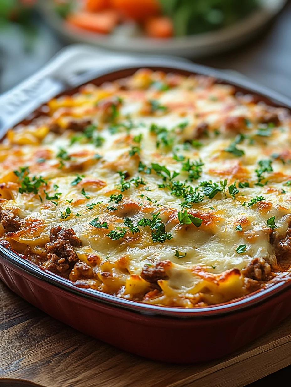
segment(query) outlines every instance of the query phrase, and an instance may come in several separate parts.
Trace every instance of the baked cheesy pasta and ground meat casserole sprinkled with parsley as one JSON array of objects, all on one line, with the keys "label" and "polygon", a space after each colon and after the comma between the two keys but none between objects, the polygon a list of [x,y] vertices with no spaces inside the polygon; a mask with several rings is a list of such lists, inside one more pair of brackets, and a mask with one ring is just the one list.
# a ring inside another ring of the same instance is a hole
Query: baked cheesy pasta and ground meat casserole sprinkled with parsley
[{"label": "baked cheesy pasta and ground meat casserole sprinkled with parsley", "polygon": [[[17,252],[77,286],[182,307],[246,295],[288,268],[274,242],[288,245],[291,220],[285,110],[150,70],[43,110],[0,148],[0,232]],[[80,238],[83,264],[58,247],[51,264],[57,226]]]}]

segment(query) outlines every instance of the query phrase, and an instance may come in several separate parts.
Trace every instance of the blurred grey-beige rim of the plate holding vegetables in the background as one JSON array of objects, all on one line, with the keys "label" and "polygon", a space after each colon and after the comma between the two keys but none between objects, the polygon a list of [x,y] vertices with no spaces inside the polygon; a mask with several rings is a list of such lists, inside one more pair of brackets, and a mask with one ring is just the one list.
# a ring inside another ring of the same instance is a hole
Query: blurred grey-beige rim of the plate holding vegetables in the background
[{"label": "blurred grey-beige rim of the plate holding vegetables in the background", "polygon": [[119,52],[178,55],[193,59],[228,50],[254,38],[255,34],[284,7],[286,1],[260,0],[259,10],[231,26],[209,33],[172,39],[125,38],[119,35],[92,33],[77,27],[64,28],[62,19],[54,12],[50,0],[40,0],[39,9],[46,21],[71,43],[89,43]]}]

